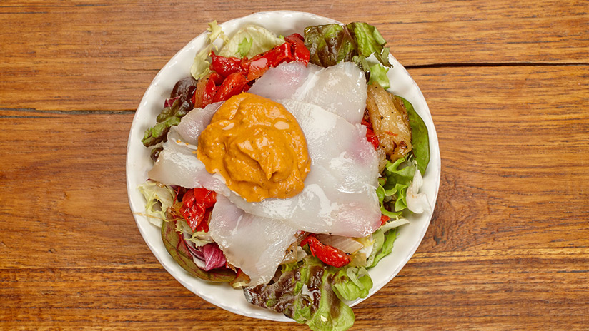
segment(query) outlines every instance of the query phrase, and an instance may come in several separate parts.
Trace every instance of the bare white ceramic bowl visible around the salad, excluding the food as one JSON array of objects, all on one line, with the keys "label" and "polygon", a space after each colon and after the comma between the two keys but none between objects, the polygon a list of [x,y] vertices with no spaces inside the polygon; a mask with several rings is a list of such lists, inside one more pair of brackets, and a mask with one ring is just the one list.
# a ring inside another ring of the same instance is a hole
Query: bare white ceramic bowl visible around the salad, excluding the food
[{"label": "bare white ceramic bowl visible around the salad, excluding the food", "polygon": [[[276,34],[287,36],[294,32],[303,34],[303,29],[306,26],[336,22],[315,14],[297,11],[269,11],[252,14],[240,19],[232,19],[219,25],[222,26],[225,34],[229,36],[244,24],[257,24],[270,31],[274,31]],[[154,125],[155,118],[162,111],[164,100],[169,96],[174,84],[179,79],[190,75],[190,66],[194,60],[194,55],[205,46],[206,36],[207,32],[200,34],[172,57],[164,68],[157,73],[157,76],[155,76],[151,85],[145,91],[139,108],[137,108],[127,145],[127,192],[129,194],[129,205],[131,206],[137,227],[149,249],[152,250],[164,268],[188,290],[199,295],[204,300],[211,302],[213,305],[222,307],[230,312],[266,320],[291,321],[282,314],[250,305],[245,300],[241,290],[234,290],[226,284],[205,282],[189,275],[167,253],[162,243],[159,228],[149,223],[147,218],[140,215],[144,213],[145,200],[137,190],[137,186],[147,180],[147,171],[153,164],[149,158],[149,149],[144,148],[141,142],[143,133],[147,128]],[[370,269],[369,273],[374,286],[370,290],[368,297],[392,280],[411,258],[413,253],[415,253],[415,250],[417,250],[425,235],[427,226],[430,224],[437,198],[437,190],[440,185],[440,150],[438,148],[437,135],[430,110],[427,108],[427,103],[425,103],[420,89],[405,68],[393,56],[390,56],[390,61],[394,68],[388,73],[392,85],[389,91],[406,98],[407,101],[412,103],[415,111],[425,121],[430,134],[430,164],[423,178],[424,185],[422,192],[425,192],[427,195],[427,200],[430,202],[432,208],[420,215],[411,215],[409,218],[410,224],[403,225],[400,228],[399,236],[395,241],[395,247],[392,253],[383,258],[375,268]],[[367,298],[356,300],[352,302],[352,305],[356,305]]]}]

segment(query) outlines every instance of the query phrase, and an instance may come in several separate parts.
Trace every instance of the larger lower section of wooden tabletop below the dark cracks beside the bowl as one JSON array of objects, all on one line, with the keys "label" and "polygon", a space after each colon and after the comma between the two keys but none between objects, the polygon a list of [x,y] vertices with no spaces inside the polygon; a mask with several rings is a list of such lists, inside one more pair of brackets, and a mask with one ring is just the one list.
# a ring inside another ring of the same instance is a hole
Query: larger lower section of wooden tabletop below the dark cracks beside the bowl
[{"label": "larger lower section of wooden tabletop below the dark cracks beside the bowl", "polygon": [[[440,138],[440,195],[417,254],[355,307],[353,330],[583,330],[589,66],[411,73]],[[1,112],[0,327],[305,330],[225,312],[157,263],[127,205],[131,120]]]}]

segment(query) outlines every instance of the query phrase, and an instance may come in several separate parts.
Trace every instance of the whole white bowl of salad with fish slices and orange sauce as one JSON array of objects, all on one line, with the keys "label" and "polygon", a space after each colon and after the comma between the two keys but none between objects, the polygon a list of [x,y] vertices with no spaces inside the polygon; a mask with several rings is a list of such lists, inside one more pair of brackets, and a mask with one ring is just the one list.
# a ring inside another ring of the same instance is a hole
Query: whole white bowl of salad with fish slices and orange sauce
[{"label": "whole white bowl of salad with fish slices and orange sauce", "polygon": [[347,330],[405,265],[439,181],[427,104],[377,28],[307,13],[211,22],[129,134],[129,202],[164,268],[312,330]]}]

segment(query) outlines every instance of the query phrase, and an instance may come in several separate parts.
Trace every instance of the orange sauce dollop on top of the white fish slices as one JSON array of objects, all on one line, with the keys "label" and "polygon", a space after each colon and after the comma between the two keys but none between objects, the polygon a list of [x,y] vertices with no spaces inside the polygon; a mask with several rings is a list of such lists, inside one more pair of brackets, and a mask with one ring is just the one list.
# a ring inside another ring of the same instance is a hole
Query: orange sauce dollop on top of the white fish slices
[{"label": "orange sauce dollop on top of the white fish slices", "polygon": [[248,202],[297,195],[310,170],[297,119],[280,103],[251,93],[219,107],[199,136],[197,157]]}]

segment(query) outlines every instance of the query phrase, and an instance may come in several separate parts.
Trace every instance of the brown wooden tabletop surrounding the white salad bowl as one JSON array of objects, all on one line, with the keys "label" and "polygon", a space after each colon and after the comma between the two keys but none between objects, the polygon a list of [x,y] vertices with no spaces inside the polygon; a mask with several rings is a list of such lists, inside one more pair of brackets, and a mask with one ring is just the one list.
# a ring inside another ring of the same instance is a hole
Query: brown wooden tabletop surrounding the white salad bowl
[{"label": "brown wooden tabletop surrounding the white salad bowl", "polygon": [[375,24],[430,106],[442,178],[417,253],[352,330],[589,330],[589,1],[0,2],[0,329],[307,330],[226,312],[157,262],[127,136],[207,22]]}]

